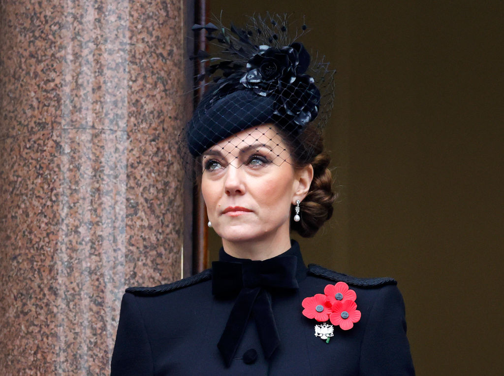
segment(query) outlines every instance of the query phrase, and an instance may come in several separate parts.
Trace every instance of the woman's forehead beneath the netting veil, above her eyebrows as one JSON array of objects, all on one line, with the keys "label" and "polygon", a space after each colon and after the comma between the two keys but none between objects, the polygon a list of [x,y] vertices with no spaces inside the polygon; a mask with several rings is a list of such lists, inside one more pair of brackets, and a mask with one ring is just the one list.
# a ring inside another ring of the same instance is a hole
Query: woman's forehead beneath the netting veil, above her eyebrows
[{"label": "woman's forehead beneath the netting veil, above her eyebrows", "polygon": [[[285,142],[278,133],[276,126],[272,124],[263,124],[238,132],[218,142],[205,153],[209,151],[221,151],[238,156],[240,152],[263,146],[273,151],[277,156],[284,157],[284,159],[288,157]],[[203,154],[205,155],[205,153]]]}]

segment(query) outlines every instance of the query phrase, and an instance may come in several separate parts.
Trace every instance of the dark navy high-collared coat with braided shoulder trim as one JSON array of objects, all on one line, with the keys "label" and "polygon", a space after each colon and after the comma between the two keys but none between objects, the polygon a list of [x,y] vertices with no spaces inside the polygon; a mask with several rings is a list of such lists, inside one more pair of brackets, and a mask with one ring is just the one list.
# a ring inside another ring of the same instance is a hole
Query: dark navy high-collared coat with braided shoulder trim
[{"label": "dark navy high-collared coat with braided shoulder trim", "polygon": [[[253,317],[229,367],[217,343],[234,299],[212,294],[211,270],[154,288],[124,294],[112,355],[112,376],[128,375],[408,375],[414,374],[404,303],[396,281],[357,279],[302,262],[297,243],[284,253],[297,257],[299,289],[272,290],[280,345],[266,359]],[[227,260],[233,258],[221,251]],[[234,259],[237,260],[237,259]],[[239,261],[239,260],[238,260]],[[360,320],[334,329],[329,343],[314,335],[314,319],[302,315],[305,297],[346,282],[356,292]]]}]

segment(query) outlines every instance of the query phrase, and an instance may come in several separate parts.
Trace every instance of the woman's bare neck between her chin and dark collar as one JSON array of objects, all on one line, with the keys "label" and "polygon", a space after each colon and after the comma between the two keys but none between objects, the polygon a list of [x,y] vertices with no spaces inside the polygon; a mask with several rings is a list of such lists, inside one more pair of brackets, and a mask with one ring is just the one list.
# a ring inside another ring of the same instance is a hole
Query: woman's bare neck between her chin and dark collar
[{"label": "woman's bare neck between her chin and dark collar", "polygon": [[233,257],[262,261],[287,251],[290,248],[290,237],[287,233],[287,236],[242,242],[230,242],[222,239],[222,246],[224,251]]}]

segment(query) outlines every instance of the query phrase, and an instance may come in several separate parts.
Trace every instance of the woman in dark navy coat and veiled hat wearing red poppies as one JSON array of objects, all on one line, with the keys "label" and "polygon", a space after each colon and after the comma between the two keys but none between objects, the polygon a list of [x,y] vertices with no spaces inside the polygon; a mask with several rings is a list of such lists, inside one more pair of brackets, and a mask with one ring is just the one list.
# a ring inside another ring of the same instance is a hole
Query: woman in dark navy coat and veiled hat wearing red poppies
[{"label": "woman in dark navy coat and veiled hat wearing red poppies", "polygon": [[413,374],[396,282],[307,268],[290,240],[332,214],[321,130],[333,72],[288,40],[285,18],[251,25],[195,27],[223,45],[208,59],[222,76],[180,144],[186,166],[197,160],[219,261],[127,290],[112,374]]}]

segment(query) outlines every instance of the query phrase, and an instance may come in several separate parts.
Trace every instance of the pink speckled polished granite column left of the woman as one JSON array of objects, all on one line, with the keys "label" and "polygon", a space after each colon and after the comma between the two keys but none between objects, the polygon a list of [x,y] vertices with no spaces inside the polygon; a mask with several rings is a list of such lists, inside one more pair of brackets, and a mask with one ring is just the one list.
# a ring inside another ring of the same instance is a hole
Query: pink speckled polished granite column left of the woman
[{"label": "pink speckled polished granite column left of the woman", "polygon": [[122,292],[180,278],[185,2],[0,3],[0,373],[108,374]]}]

